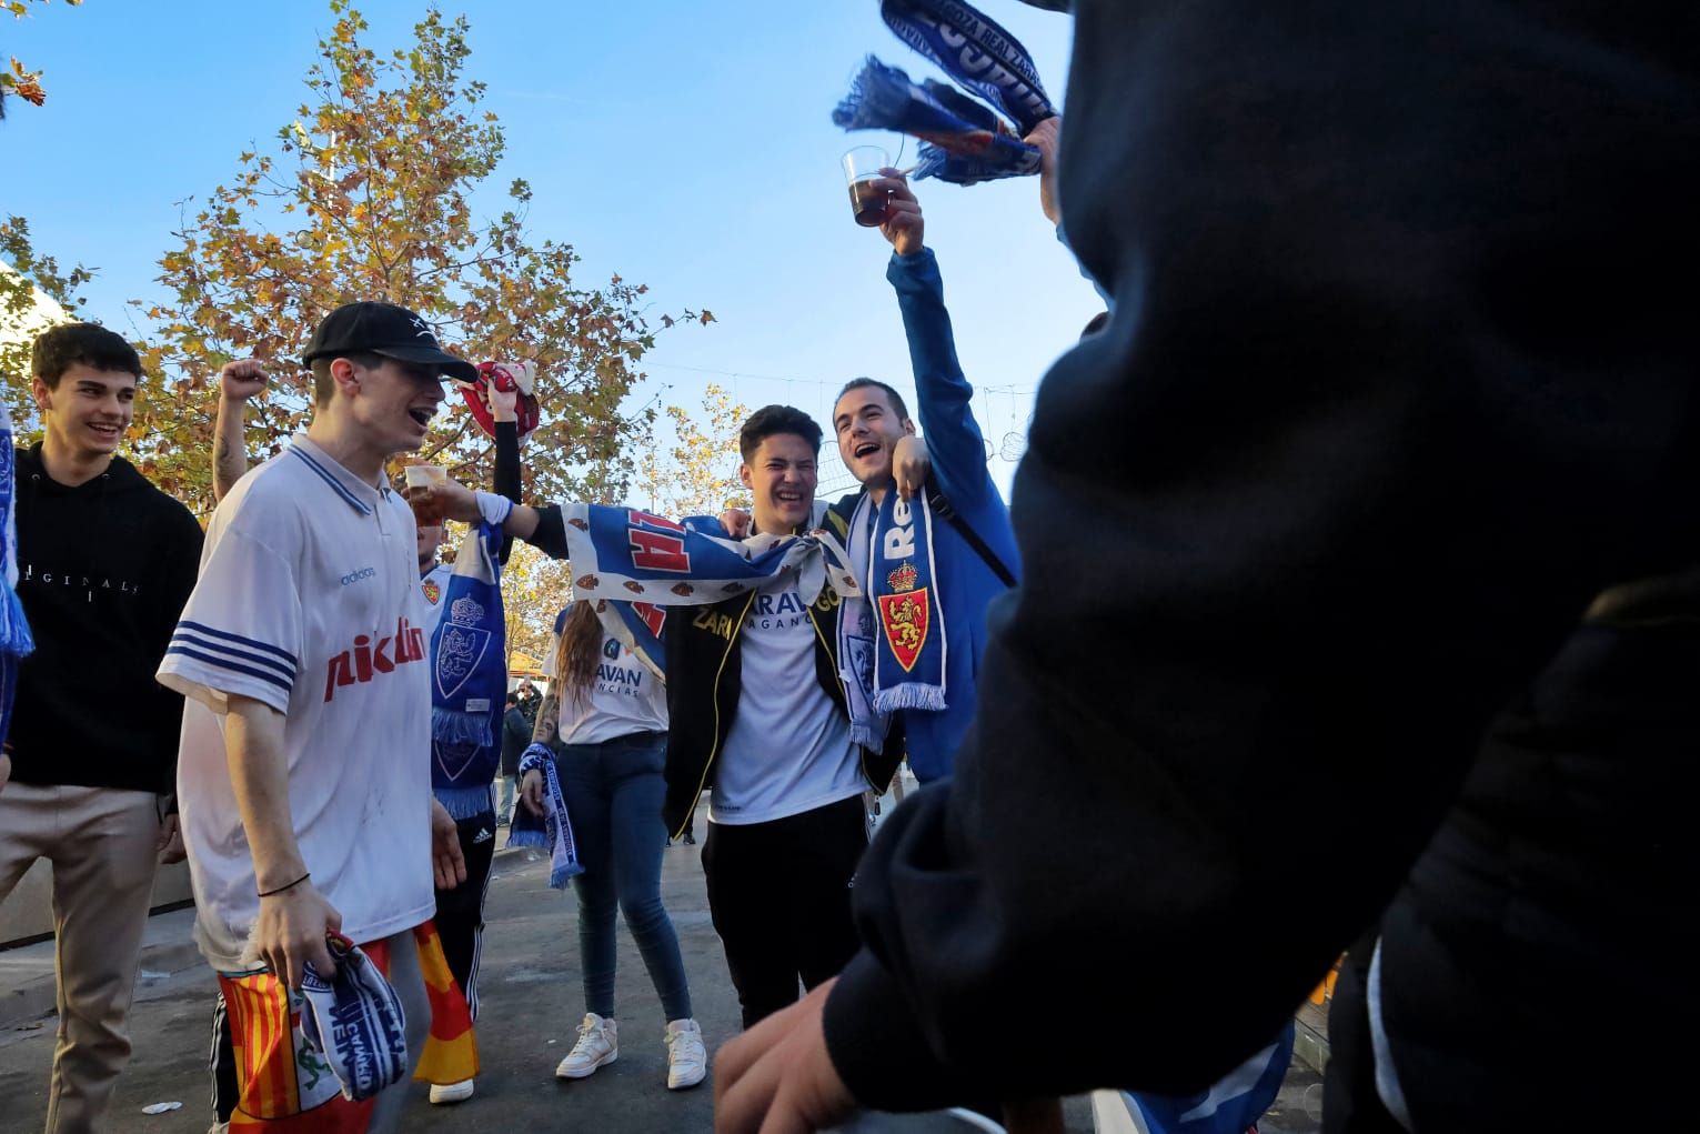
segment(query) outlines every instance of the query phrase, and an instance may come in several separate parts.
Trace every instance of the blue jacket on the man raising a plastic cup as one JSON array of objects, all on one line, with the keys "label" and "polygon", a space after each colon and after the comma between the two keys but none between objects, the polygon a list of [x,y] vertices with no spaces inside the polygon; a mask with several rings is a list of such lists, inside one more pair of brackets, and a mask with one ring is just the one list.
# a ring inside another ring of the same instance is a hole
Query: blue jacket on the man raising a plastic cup
[{"label": "blue jacket on the man raising a plastic cup", "polygon": [[[945,311],[944,281],[932,248],[915,255],[892,255],[886,279],[898,291],[903,333],[910,340],[915,367],[915,418],[932,454],[932,479],[957,515],[996,553],[1017,576],[1020,553],[1010,530],[1010,513],[986,469],[986,444],[974,420],[974,388],[962,376]],[[865,490],[864,490],[865,491]],[[923,784],[949,775],[955,767],[957,741],[974,716],[974,687],[979,660],[986,651],[986,607],[1008,590],[954,524],[933,522],[933,558],[938,575],[938,604],[945,612],[945,702],[942,712],[904,712],[910,770]]]}]

